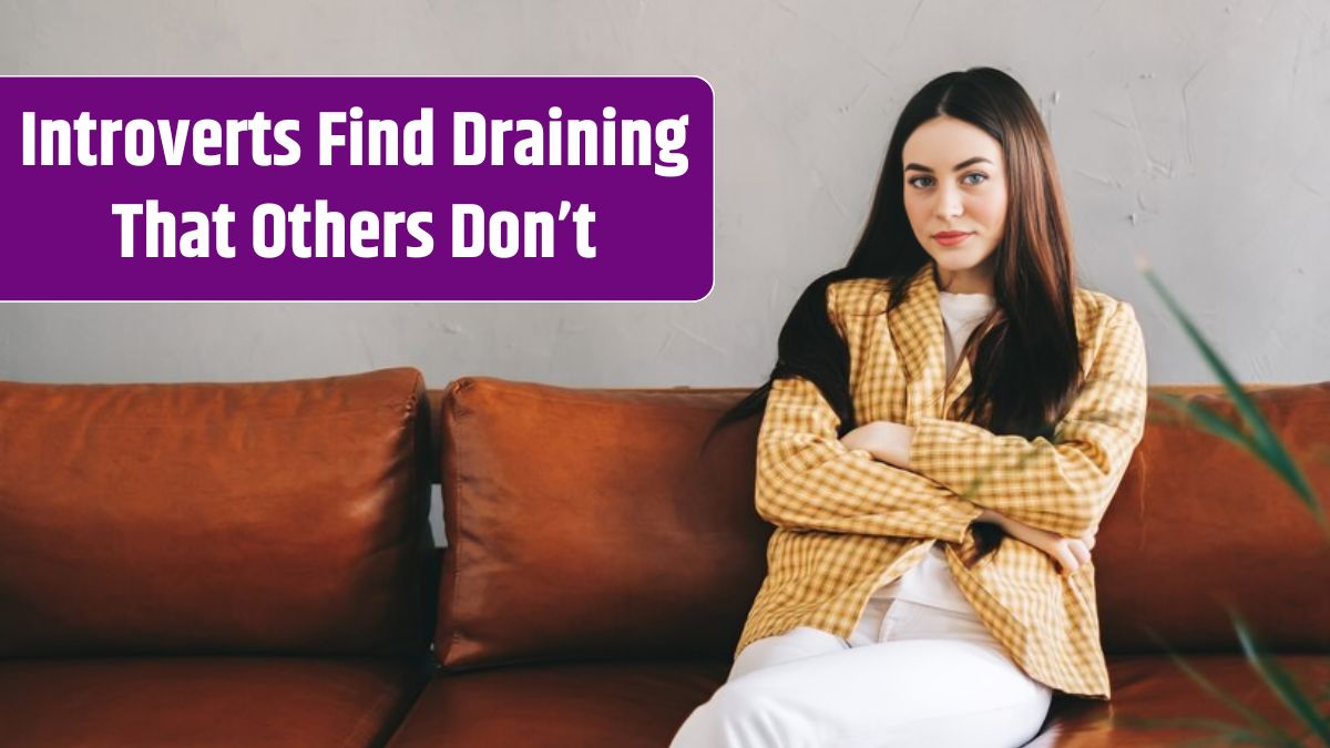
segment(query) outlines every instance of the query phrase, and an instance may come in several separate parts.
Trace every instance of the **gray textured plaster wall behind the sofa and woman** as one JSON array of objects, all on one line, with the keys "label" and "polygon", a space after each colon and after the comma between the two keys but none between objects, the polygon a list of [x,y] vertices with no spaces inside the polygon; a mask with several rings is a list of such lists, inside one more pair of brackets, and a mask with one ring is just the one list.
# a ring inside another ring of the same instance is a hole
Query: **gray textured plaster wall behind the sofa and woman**
[{"label": "gray textured plaster wall behind the sofa and woman", "polygon": [[[0,72],[696,73],[716,89],[698,303],[0,305],[0,378],[225,381],[412,365],[565,385],[755,385],[859,233],[919,85],[1003,68],[1044,112],[1081,280],[1150,381],[1210,382],[1145,254],[1246,381],[1330,379],[1330,3],[0,0]],[[9,185],[5,189],[11,189]]]}]

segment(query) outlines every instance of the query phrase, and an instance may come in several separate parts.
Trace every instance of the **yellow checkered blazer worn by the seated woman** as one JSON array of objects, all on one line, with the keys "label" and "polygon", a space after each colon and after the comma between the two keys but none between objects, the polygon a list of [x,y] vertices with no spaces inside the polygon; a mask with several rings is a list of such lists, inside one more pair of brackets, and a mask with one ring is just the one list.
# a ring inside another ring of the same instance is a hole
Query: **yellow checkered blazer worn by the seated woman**
[{"label": "yellow checkered blazer worn by the seated woman", "polygon": [[908,283],[906,299],[886,313],[883,280],[834,282],[827,310],[849,343],[858,423],[915,426],[914,470],[847,450],[837,438],[839,419],[810,381],[773,382],[758,433],[755,502],[775,531],[734,654],[797,626],[849,638],[872,592],[940,542],[956,584],[1016,664],[1052,688],[1108,699],[1093,563],[1063,576],[1044,552],[1013,538],[974,568],[960,559],[974,551],[970,523],[982,507],[1067,536],[1099,524],[1145,426],[1136,313],[1076,290],[1084,386],[1052,442],[1025,439],[942,418],[970,385],[970,363],[962,358],[944,382],[932,264]]}]

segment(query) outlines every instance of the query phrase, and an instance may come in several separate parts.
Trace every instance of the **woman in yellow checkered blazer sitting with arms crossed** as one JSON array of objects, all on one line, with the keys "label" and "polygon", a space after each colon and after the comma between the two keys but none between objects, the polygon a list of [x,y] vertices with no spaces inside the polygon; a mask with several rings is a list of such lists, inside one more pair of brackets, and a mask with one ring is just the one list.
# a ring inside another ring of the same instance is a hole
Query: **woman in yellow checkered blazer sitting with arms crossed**
[{"label": "woman in yellow checkered blazer sitting with arms crossed", "polygon": [[1130,305],[1079,287],[1048,136],[972,68],[916,93],[846,268],[781,330],[775,526],[729,679],[676,748],[1019,745],[1108,699],[1091,550],[1141,438]]}]

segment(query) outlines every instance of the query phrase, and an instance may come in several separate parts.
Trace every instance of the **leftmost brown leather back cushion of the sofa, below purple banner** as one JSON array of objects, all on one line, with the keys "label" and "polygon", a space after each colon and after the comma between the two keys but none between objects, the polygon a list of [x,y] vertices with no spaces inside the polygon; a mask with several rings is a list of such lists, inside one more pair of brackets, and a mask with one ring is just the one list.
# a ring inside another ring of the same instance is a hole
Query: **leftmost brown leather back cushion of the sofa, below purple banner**
[{"label": "leftmost brown leather back cushion of the sofa, below purple banner", "polygon": [[426,402],[412,369],[0,383],[0,655],[423,651]]}]

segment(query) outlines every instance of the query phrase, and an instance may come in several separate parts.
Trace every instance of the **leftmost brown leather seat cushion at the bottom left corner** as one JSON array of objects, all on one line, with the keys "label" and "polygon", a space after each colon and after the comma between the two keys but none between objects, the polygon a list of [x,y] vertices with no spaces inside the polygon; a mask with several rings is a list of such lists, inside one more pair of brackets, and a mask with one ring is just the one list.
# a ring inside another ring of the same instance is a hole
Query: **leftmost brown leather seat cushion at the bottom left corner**
[{"label": "leftmost brown leather seat cushion at the bottom left corner", "polygon": [[31,748],[382,745],[427,677],[403,659],[0,661],[0,743]]}]

